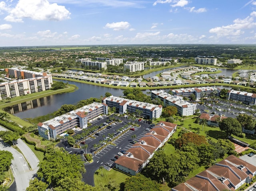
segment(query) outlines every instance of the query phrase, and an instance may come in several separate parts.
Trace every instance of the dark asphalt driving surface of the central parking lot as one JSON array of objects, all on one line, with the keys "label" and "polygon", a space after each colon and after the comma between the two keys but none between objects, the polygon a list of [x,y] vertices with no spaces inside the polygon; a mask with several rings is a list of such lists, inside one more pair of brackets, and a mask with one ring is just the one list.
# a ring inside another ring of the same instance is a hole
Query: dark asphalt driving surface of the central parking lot
[{"label": "dark asphalt driving surface of the central parking lot", "polygon": [[[108,118],[96,120],[92,122],[92,124],[99,125],[103,122],[106,122],[106,120],[108,120]],[[116,156],[117,153],[121,150],[126,151],[132,146],[132,144],[130,144],[130,142],[133,140],[131,138],[132,135],[136,135],[136,141],[147,133],[145,129],[148,128],[149,124],[137,121],[137,123],[141,126],[139,128],[135,128],[135,131],[127,130],[124,134],[122,134],[122,136],[118,136],[118,138],[113,142],[115,145],[108,144],[104,149],[95,155],[93,151],[90,152],[90,150],[94,150],[94,144],[98,144],[100,140],[104,140],[103,135],[106,137],[109,133],[116,133],[116,130],[126,125],[124,122],[128,122],[127,118],[121,118],[121,120],[123,120],[123,122],[118,123],[113,128],[109,130],[105,128],[104,130],[100,131],[99,136],[94,136],[95,138],[88,138],[85,140],[86,144],[88,144],[87,153],[91,153],[93,155],[93,163],[85,163],[86,173],[82,175],[82,181],[85,183],[94,186],[95,171],[99,169],[100,166],[104,166],[104,168],[109,169],[105,163],[114,164],[114,162],[110,161],[110,159],[114,158],[114,156]],[[68,144],[65,140],[62,140],[57,146],[63,147],[66,151],[70,152],[70,154],[74,154],[74,152],[80,153],[80,149],[68,147]],[[81,157],[83,158],[82,152]]]}]

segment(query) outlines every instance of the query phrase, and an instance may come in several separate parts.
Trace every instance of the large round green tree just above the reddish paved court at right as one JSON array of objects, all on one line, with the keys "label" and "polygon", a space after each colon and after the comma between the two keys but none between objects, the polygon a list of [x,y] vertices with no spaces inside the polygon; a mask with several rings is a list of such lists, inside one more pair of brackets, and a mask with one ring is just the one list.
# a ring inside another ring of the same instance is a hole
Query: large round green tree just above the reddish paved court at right
[{"label": "large round green tree just above the reddish paved court at right", "polygon": [[228,117],[223,119],[219,123],[219,127],[220,130],[226,132],[227,136],[231,136],[232,134],[238,136],[242,133],[242,126],[235,118]]}]

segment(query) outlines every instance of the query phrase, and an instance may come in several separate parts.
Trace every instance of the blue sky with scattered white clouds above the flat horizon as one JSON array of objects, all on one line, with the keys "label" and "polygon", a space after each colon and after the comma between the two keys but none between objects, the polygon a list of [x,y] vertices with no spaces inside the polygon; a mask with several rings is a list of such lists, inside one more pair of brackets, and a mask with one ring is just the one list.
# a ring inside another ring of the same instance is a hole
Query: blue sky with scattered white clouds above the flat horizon
[{"label": "blue sky with scattered white clouds above the flat horizon", "polygon": [[256,0],[0,0],[0,46],[254,44]]}]

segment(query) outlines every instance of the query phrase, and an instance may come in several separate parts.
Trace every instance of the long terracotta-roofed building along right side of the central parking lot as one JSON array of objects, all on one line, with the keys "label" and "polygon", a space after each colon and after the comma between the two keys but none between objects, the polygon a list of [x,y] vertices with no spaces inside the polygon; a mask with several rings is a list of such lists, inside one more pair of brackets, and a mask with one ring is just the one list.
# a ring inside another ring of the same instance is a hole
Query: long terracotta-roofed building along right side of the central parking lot
[{"label": "long terracotta-roofed building along right side of the central parking lot", "polygon": [[176,131],[177,125],[169,122],[160,122],[145,134],[136,144],[128,149],[123,156],[120,156],[115,163],[116,168],[136,175],[142,171],[154,152],[162,147],[170,136]]}]

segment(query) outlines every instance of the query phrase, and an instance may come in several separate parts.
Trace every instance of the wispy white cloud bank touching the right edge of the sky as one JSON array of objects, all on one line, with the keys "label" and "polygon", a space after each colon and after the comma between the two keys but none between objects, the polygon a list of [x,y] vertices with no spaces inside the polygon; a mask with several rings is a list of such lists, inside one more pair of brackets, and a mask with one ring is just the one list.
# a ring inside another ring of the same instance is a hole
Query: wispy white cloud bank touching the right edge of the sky
[{"label": "wispy white cloud bank touching the right edge of the sky", "polygon": [[235,19],[233,22],[234,24],[230,24],[227,26],[221,26],[221,27],[216,27],[212,28],[209,30],[210,33],[216,33],[218,37],[223,37],[223,36],[230,36],[230,35],[241,35],[244,32],[242,30],[244,29],[251,29],[256,26],[256,22],[254,21],[253,16],[255,16],[255,13],[252,12],[251,16],[246,17],[245,19]]}]

